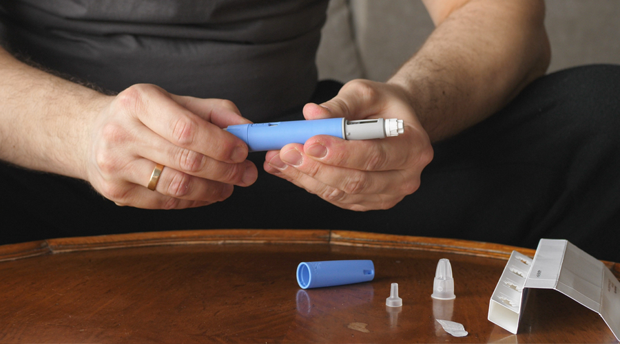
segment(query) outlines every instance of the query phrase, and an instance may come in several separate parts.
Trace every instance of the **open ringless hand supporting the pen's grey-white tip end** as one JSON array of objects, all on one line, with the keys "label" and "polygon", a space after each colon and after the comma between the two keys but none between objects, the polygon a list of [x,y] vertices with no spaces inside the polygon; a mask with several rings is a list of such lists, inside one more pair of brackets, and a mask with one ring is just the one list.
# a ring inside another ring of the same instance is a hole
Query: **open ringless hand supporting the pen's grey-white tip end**
[{"label": "open ringless hand supporting the pen's grey-white tip end", "polygon": [[420,173],[433,159],[433,148],[408,94],[397,85],[352,80],[327,103],[304,107],[307,120],[344,117],[398,118],[397,137],[349,141],[313,136],[269,151],[265,171],[353,211],[388,209],[420,186]]}]

